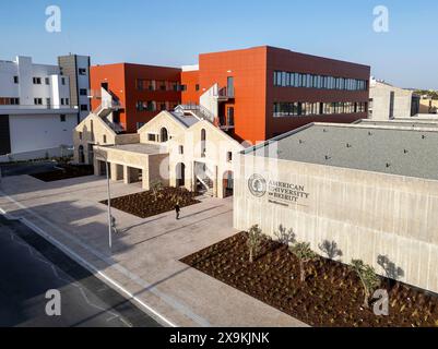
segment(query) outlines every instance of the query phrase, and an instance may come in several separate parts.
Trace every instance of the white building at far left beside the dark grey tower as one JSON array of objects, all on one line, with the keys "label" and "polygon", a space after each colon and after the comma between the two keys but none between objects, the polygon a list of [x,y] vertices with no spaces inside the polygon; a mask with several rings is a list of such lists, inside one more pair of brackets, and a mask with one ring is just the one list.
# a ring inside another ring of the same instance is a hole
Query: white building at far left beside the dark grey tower
[{"label": "white building at far left beside the dark grey tower", "polygon": [[29,57],[0,61],[0,156],[40,157],[72,145],[78,124],[70,79],[58,65],[35,64]]}]

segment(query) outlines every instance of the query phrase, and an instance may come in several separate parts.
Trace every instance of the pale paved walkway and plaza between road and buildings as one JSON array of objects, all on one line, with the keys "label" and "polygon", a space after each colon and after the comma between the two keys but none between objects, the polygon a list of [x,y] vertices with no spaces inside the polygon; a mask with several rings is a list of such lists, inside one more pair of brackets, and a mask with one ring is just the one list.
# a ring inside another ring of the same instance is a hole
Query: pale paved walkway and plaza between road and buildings
[{"label": "pale paved walkway and plaza between road and buildings", "polygon": [[[142,191],[111,182],[113,196]],[[85,177],[45,183],[28,176],[3,178],[0,212],[24,218],[97,277],[133,297],[167,326],[305,326],[301,322],[179,262],[226,239],[233,201],[205,198],[174,213],[141,219],[114,209],[120,233],[108,248],[106,181]]]}]

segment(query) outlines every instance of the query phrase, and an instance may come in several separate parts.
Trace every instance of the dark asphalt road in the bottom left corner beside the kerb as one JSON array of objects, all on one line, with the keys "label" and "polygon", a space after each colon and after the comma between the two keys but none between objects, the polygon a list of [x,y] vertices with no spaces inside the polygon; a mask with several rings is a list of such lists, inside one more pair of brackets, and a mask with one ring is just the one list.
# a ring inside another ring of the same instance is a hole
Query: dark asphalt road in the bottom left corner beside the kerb
[{"label": "dark asphalt road in the bottom left corner beside the kerb", "polygon": [[[46,314],[48,290],[61,315]],[[0,215],[0,327],[158,327],[152,317],[17,220]]]}]

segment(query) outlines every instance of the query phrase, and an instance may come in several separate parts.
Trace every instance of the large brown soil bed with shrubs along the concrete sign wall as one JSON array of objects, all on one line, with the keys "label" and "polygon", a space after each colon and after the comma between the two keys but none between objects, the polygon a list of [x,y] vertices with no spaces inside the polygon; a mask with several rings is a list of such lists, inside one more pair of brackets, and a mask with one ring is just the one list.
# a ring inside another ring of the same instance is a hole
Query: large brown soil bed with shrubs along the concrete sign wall
[{"label": "large brown soil bed with shrubs along the concrete sign wall", "polygon": [[438,326],[438,297],[382,278],[389,292],[389,315],[363,309],[364,290],[346,265],[318,257],[307,263],[307,279],[299,281],[299,265],[286,245],[265,240],[261,253],[248,262],[247,233],[240,232],[181,260],[247,294],[311,326],[423,327]]}]

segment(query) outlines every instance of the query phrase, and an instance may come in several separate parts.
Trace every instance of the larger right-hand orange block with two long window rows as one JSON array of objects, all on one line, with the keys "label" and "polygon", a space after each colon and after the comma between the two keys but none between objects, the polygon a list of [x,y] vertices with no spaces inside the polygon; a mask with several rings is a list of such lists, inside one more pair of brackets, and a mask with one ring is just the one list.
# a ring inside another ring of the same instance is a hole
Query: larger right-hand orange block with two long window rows
[{"label": "larger right-hand orange block with two long window rows", "polygon": [[181,73],[181,100],[192,103],[217,83],[228,91],[218,123],[236,140],[256,144],[312,121],[367,118],[369,76],[367,65],[254,47],[200,55],[198,74]]}]

